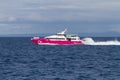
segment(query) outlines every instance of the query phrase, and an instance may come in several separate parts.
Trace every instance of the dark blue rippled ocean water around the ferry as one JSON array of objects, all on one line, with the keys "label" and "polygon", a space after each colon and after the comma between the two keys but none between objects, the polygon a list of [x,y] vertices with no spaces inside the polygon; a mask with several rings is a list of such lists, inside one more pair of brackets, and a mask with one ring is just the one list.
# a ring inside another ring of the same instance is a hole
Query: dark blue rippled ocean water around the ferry
[{"label": "dark blue rippled ocean water around the ferry", "polygon": [[0,38],[0,80],[120,80],[120,46],[39,46],[30,38]]}]

